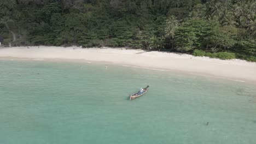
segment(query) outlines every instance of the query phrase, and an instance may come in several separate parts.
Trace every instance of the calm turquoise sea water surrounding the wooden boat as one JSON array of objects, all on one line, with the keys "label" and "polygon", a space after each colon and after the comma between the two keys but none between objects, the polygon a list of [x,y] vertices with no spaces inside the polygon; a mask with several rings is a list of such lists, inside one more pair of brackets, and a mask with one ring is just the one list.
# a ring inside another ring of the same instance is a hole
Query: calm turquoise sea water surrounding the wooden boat
[{"label": "calm turquoise sea water surrounding the wooden boat", "polygon": [[[146,95],[128,100],[147,85]],[[255,142],[253,84],[94,63],[0,61],[0,143]]]}]

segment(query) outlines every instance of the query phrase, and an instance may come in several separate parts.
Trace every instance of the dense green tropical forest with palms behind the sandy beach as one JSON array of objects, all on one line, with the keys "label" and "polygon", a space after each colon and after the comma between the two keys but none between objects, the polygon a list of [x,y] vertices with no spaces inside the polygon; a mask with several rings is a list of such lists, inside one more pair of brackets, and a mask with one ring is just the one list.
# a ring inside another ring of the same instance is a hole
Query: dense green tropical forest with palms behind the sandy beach
[{"label": "dense green tropical forest with palms behind the sandy beach", "polygon": [[[129,46],[252,61],[255,1],[0,1],[5,44]],[[200,50],[200,51],[199,51]]]}]

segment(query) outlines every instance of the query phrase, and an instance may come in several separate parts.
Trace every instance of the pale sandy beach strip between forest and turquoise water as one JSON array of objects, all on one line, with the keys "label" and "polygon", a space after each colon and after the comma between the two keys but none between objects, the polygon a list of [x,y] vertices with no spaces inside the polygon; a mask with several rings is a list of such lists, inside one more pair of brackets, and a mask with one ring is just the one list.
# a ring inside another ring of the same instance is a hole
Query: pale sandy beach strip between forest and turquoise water
[{"label": "pale sandy beach strip between forest and turquoise water", "polygon": [[256,63],[239,59],[223,61],[208,57],[143,50],[111,49],[107,47],[81,49],[79,47],[24,46],[0,48],[1,59],[85,60],[113,62],[125,66],[150,69],[179,70],[212,75],[235,81],[256,82]]}]

